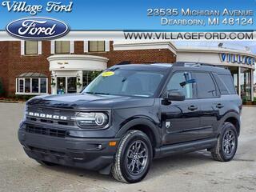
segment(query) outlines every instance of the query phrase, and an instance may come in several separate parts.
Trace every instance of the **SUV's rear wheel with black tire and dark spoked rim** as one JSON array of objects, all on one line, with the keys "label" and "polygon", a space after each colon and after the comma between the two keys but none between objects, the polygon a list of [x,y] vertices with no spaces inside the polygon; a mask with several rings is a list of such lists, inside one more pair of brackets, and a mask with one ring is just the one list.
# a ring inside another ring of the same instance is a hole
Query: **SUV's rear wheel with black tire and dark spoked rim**
[{"label": "SUV's rear wheel with black tire and dark spoked rim", "polygon": [[219,162],[229,162],[234,158],[238,148],[238,132],[230,122],[224,122],[222,133],[218,137],[218,142],[211,154],[214,160]]}]

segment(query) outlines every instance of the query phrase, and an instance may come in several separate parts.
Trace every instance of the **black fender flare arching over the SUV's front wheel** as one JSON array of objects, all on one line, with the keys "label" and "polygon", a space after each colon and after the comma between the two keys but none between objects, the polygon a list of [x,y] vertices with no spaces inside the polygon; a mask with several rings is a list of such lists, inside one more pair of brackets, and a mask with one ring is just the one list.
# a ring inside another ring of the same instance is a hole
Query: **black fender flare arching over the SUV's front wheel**
[{"label": "black fender flare arching over the SUV's front wheel", "polygon": [[122,135],[126,133],[127,130],[130,130],[133,126],[147,126],[151,130],[151,132],[154,134],[155,139],[155,147],[160,146],[161,144],[161,129],[157,126],[157,123],[153,121],[153,119],[146,118],[146,117],[135,117],[130,119],[130,121],[126,122],[124,125],[121,126],[120,130],[118,130],[118,133],[116,134],[117,138],[122,138]]}]

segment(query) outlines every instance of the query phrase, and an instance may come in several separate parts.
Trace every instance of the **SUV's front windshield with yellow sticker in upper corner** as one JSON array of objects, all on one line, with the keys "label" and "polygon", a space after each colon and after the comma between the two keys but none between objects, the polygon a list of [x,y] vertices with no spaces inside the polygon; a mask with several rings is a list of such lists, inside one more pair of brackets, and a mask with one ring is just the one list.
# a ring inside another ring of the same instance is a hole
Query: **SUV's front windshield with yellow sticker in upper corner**
[{"label": "SUV's front windshield with yellow sticker in upper corner", "polygon": [[162,77],[163,74],[158,71],[105,71],[86,86],[82,93],[151,97]]}]

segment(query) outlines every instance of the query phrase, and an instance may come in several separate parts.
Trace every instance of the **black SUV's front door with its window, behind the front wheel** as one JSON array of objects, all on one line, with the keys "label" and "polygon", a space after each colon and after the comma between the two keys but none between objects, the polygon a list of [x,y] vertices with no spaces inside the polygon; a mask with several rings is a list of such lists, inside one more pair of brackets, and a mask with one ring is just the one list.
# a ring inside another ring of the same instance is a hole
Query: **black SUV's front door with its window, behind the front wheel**
[{"label": "black SUV's front door with its window, behind the front wheel", "polygon": [[[162,102],[162,141],[164,145],[190,142],[198,139],[200,126],[200,106],[196,99],[195,83],[187,83],[192,78],[189,72],[175,72],[166,86],[166,90],[179,90],[185,95],[185,101]],[[190,81],[192,82],[192,81]]]}]

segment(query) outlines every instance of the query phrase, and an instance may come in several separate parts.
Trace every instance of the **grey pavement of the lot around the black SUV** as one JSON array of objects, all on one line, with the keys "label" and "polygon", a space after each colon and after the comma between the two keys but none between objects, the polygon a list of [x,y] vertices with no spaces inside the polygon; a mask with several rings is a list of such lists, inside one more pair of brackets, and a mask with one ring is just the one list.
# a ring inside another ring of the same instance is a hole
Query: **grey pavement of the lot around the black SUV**
[{"label": "grey pavement of the lot around the black SUV", "polygon": [[238,152],[215,162],[206,150],[156,159],[140,183],[28,158],[17,138],[24,104],[0,103],[0,191],[256,191],[256,107],[245,106]]}]

